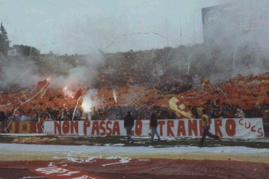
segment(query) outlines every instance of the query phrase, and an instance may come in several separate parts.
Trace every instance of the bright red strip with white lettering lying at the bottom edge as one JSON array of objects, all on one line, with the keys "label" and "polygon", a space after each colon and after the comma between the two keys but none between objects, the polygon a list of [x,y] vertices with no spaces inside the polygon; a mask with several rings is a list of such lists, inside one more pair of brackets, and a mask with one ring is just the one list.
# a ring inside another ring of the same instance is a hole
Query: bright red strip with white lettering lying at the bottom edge
[{"label": "bright red strip with white lettering lying at the bottom edge", "polygon": [[99,176],[90,175],[62,166],[50,166],[37,169],[28,169],[29,171],[49,179],[105,179]]}]

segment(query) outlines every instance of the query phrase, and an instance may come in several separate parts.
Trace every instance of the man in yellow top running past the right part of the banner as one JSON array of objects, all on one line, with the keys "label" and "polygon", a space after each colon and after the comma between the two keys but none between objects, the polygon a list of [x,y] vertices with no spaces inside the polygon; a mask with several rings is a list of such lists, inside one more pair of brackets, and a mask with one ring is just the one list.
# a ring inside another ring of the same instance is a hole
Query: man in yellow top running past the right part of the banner
[{"label": "man in yellow top running past the right part of the banner", "polygon": [[218,141],[221,141],[218,135],[214,135],[209,132],[211,120],[206,113],[207,113],[206,109],[203,109],[202,110],[202,125],[203,125],[204,132],[200,141],[200,147],[203,146],[206,136],[217,139]]}]

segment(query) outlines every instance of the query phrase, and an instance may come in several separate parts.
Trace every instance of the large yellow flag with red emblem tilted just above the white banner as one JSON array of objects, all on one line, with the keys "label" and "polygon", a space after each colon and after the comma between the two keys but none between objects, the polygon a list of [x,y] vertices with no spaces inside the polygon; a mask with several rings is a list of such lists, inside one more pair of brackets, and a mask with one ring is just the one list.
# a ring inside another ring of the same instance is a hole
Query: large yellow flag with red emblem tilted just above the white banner
[{"label": "large yellow flag with red emblem tilted just above the white banner", "polygon": [[182,101],[179,101],[175,96],[169,100],[169,107],[175,111],[178,119],[195,119],[192,112],[183,104]]}]

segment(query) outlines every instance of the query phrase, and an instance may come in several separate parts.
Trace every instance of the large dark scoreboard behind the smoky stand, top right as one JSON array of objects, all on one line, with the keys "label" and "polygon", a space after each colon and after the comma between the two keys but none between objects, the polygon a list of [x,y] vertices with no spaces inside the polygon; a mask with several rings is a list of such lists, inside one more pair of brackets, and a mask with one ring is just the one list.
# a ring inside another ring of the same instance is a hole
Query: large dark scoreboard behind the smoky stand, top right
[{"label": "large dark scoreboard behind the smoky stand, top right", "polygon": [[235,1],[202,8],[204,43],[221,44],[242,36],[266,34],[269,2],[257,2],[263,1]]}]

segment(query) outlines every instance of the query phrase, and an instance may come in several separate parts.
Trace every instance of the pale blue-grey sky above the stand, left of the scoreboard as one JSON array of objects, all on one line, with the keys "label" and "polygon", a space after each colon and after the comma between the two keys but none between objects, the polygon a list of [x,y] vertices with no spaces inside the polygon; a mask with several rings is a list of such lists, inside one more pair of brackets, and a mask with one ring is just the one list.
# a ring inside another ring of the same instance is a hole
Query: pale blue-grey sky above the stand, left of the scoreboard
[{"label": "pale blue-grey sky above the stand, left of the scoreboard", "polygon": [[[183,45],[202,43],[201,8],[230,1],[0,0],[0,20],[10,47],[59,55],[115,53],[178,47],[180,29]],[[140,34],[124,36],[133,33]]]}]

